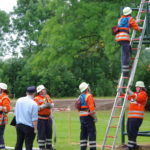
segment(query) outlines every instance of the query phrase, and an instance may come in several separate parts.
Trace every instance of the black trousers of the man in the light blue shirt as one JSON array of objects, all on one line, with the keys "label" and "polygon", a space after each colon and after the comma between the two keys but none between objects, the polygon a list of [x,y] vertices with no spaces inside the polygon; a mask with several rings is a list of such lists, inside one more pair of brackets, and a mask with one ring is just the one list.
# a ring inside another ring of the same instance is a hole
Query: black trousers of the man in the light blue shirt
[{"label": "black trousers of the man in the light blue shirt", "polygon": [[17,143],[15,150],[22,150],[23,142],[25,141],[26,150],[32,150],[33,141],[35,138],[34,128],[24,124],[16,125]]}]

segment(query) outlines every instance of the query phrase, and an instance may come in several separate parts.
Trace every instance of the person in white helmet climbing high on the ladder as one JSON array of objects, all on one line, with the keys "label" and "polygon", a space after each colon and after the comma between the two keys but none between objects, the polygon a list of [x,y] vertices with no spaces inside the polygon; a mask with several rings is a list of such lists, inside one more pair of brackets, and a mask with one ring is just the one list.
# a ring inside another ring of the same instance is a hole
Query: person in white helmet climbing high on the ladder
[{"label": "person in white helmet climbing high on the ladder", "polygon": [[130,46],[130,36],[129,30],[133,28],[134,30],[141,31],[141,28],[135,22],[134,18],[131,16],[132,9],[130,7],[125,7],[123,9],[123,16],[118,20],[119,32],[116,34],[115,40],[122,47],[122,72],[124,77],[129,76],[129,62],[131,55]]}]

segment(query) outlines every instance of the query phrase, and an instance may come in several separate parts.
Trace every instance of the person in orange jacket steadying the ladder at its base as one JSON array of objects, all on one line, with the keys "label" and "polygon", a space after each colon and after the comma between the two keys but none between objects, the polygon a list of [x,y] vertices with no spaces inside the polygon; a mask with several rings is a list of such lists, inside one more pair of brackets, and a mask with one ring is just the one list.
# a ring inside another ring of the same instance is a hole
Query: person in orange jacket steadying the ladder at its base
[{"label": "person in orange jacket steadying the ladder at its base", "polygon": [[136,92],[133,93],[130,89],[128,91],[130,106],[127,120],[128,147],[126,150],[136,150],[138,148],[136,138],[144,118],[145,105],[148,99],[143,81],[137,81],[135,87]]}]

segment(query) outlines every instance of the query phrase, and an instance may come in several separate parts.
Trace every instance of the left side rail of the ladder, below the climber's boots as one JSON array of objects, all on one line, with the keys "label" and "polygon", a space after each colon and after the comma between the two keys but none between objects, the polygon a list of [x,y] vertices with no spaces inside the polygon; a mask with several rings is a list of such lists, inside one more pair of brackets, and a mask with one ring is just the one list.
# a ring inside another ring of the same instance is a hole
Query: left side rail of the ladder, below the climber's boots
[{"label": "left side rail of the ladder, below the climber's boots", "polygon": [[103,141],[101,150],[104,150],[104,146],[105,146],[105,144],[106,144],[107,136],[108,136],[108,133],[109,133],[109,130],[110,130],[110,124],[111,124],[112,119],[113,119],[112,116],[113,116],[113,114],[114,114],[114,112],[115,112],[115,106],[116,106],[116,104],[117,104],[117,99],[118,99],[118,96],[119,96],[119,94],[120,94],[120,92],[119,92],[119,91],[120,91],[119,87],[123,85],[123,80],[124,80],[124,79],[123,79],[123,74],[121,74],[121,78],[120,78],[119,83],[118,83],[117,94],[116,94],[115,101],[114,101],[114,104],[113,104],[113,107],[112,107],[111,115],[110,115],[110,117],[109,117],[109,121],[108,121],[108,125],[107,125],[107,128],[106,128],[106,133],[105,133],[105,137],[104,137],[104,141]]}]

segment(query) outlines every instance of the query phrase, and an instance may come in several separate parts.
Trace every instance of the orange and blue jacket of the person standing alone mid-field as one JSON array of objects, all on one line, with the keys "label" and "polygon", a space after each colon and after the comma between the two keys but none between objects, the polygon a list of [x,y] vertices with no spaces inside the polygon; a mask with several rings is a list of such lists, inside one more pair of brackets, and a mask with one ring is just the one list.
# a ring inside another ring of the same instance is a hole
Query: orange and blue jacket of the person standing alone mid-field
[{"label": "orange and blue jacket of the person standing alone mid-field", "polygon": [[79,96],[81,101],[81,110],[79,111],[80,116],[89,116],[96,114],[95,102],[93,95],[89,92],[83,93]]}]

